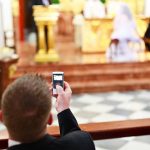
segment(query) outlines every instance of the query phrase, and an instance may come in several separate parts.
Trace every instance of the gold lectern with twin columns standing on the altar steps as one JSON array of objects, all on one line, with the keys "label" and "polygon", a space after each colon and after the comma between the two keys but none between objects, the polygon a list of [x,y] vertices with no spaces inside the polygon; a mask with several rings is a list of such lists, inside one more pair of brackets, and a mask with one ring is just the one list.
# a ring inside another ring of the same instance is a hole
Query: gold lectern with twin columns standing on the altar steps
[{"label": "gold lectern with twin columns standing on the altar steps", "polygon": [[[54,27],[58,19],[58,5],[48,7],[34,6],[34,19],[38,27],[39,50],[35,61],[40,63],[58,62],[59,56],[55,50]],[[46,50],[45,27],[48,29],[48,51]]]}]

